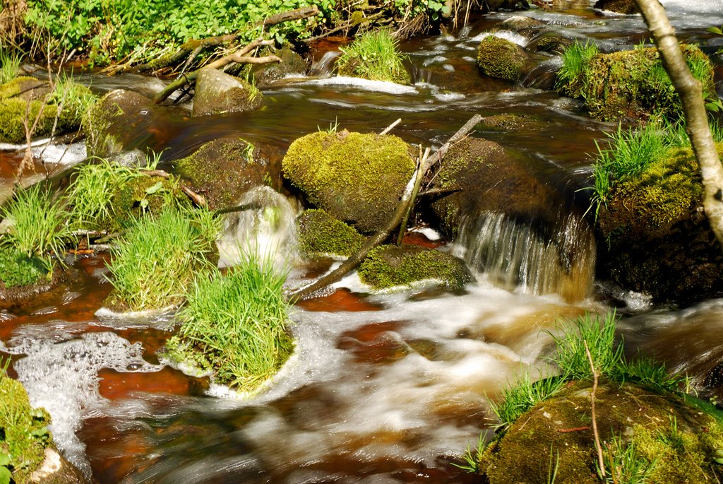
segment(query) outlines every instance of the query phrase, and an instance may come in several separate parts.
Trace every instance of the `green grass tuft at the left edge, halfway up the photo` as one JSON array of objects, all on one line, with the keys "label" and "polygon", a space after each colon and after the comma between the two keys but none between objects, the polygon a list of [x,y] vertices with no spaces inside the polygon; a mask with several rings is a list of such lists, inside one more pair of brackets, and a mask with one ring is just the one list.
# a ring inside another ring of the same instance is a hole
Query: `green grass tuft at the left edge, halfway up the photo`
[{"label": "green grass tuft at the left edge, halfway up the photo", "polygon": [[11,222],[0,244],[38,258],[48,272],[53,270],[54,258],[61,258],[65,246],[74,240],[64,200],[53,200],[40,184],[18,191],[0,208],[0,215]]}]

